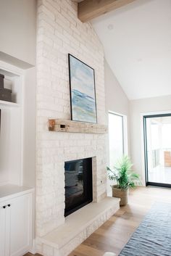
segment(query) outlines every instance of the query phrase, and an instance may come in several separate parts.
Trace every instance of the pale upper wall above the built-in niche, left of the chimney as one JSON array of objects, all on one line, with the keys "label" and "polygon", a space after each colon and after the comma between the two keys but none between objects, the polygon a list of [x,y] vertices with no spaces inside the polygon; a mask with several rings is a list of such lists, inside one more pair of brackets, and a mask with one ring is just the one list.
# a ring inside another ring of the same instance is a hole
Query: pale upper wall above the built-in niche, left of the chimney
[{"label": "pale upper wall above the built-in niche, left of the chimney", "polygon": [[0,31],[0,52],[36,64],[36,0],[0,0]]}]

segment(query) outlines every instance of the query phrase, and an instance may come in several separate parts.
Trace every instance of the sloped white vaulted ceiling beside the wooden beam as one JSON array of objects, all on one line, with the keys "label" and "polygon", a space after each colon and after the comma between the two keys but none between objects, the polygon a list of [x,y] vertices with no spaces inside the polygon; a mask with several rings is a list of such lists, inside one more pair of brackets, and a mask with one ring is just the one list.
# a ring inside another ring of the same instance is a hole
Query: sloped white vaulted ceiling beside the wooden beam
[{"label": "sloped white vaulted ceiling beside the wooden beam", "polygon": [[171,94],[171,0],[137,0],[92,24],[128,99]]}]

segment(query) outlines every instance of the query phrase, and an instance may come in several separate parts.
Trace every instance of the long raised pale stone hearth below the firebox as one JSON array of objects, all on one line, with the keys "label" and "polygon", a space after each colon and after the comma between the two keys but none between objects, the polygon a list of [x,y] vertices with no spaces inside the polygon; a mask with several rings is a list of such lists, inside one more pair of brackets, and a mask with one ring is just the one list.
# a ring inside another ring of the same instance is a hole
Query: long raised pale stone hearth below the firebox
[{"label": "long raised pale stone hearth below the firebox", "polygon": [[37,239],[43,256],[67,256],[120,208],[120,199],[106,197],[92,202],[65,218],[65,223]]}]

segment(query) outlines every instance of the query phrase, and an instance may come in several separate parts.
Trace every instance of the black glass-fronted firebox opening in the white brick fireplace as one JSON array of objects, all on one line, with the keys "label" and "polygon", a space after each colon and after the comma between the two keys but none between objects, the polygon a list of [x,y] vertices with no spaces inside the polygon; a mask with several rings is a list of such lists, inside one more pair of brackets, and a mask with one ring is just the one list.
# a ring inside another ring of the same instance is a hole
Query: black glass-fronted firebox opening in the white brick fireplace
[{"label": "black glass-fronted firebox opening in the white brick fireplace", "polygon": [[65,162],[64,170],[66,217],[93,200],[92,158]]}]

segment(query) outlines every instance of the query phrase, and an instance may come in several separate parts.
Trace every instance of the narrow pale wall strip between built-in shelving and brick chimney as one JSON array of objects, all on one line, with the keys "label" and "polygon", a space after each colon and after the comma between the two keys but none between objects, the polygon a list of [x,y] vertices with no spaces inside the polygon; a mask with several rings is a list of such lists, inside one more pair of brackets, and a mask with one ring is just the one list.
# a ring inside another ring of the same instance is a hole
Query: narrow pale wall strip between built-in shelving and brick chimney
[{"label": "narrow pale wall strip between built-in shelving and brick chimney", "polygon": [[23,185],[35,186],[36,67],[25,70]]}]

